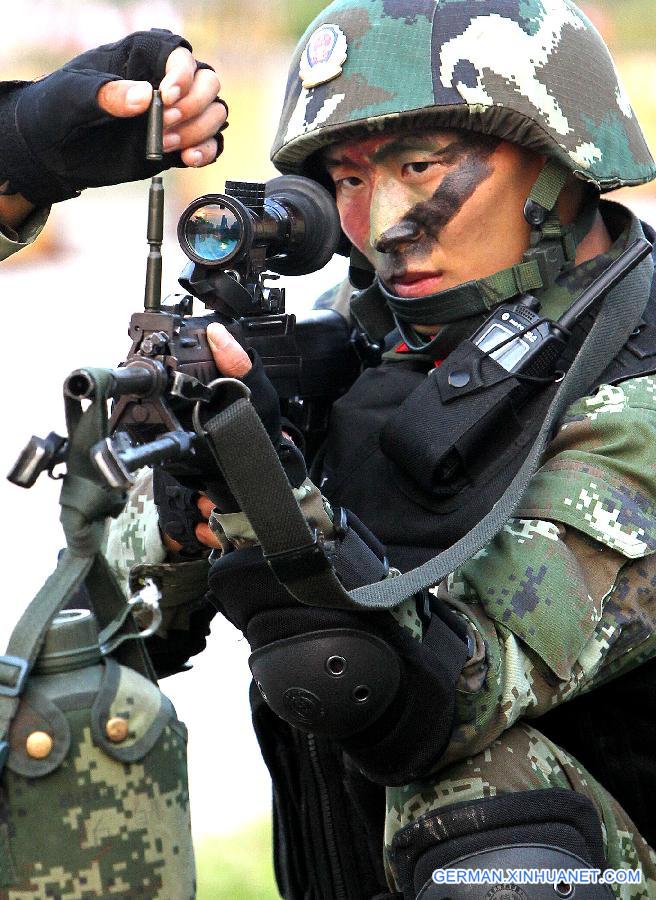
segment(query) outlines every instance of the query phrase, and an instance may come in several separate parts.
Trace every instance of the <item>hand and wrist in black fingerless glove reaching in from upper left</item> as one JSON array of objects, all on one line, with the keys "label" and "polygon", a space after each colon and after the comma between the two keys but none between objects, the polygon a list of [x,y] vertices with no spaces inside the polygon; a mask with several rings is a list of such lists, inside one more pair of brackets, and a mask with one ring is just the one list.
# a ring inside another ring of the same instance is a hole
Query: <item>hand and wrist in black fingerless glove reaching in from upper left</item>
[{"label": "hand and wrist in black fingerless glove reaching in from upper left", "polygon": [[[153,85],[164,105],[164,160],[144,159]],[[0,85],[0,259],[31,243],[52,203],[86,187],[205,166],[222,146],[219,79],[179,35],[152,29],[89,50],[32,82]]]}]

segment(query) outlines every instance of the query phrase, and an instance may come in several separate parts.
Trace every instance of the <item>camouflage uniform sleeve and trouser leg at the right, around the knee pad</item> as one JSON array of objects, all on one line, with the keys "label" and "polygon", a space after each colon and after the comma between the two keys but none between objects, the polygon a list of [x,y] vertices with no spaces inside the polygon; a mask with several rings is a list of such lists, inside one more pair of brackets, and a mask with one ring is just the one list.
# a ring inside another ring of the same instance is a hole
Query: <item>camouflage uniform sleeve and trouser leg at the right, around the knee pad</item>
[{"label": "camouflage uniform sleeve and trouser leg at the right, around the knee pad", "polygon": [[654,428],[654,377],[602,386],[574,404],[521,518],[440,586],[474,629],[477,651],[435,776],[388,788],[388,845],[398,828],[441,806],[570,787],[593,800],[609,864],[643,869],[641,890],[617,896],[656,896],[656,855],[626,813],[575,759],[520,721],[656,654]]}]

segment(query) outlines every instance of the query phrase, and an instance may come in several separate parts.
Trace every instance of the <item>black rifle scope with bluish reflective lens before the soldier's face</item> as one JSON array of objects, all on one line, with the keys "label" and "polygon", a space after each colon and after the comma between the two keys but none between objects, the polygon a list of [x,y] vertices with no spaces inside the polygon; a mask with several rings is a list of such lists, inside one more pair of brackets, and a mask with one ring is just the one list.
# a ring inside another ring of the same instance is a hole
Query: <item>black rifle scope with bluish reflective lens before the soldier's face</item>
[{"label": "black rifle scope with bluish reflective lens before the soldier's face", "polygon": [[192,201],[178,240],[192,262],[232,269],[261,254],[268,269],[306,275],[337,250],[339,214],[328,191],[308,178],[283,175],[267,184],[227,181],[225,194]]}]

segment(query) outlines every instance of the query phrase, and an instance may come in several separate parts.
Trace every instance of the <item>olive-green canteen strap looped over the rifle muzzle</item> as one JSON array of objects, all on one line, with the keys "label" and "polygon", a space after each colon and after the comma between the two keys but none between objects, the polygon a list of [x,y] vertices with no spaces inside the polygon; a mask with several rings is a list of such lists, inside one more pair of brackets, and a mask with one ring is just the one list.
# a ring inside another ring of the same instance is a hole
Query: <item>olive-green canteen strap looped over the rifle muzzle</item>
[{"label": "olive-green canteen strap looped over the rifle muzzle", "polygon": [[[66,475],[62,481],[61,521],[67,548],[57,568],[27,607],[0,656],[0,770],[8,753],[7,735],[27,677],[36,662],[46,633],[64,603],[86,583],[99,624],[117,615],[125,598],[99,552],[104,522],[125,503],[125,496],[105,485],[91,461],[91,447],[107,435],[109,372],[87,370],[95,396],[82,411],[78,401],[66,399],[69,442]],[[132,644],[138,642],[133,641]],[[130,664],[149,677],[152,666],[142,647],[130,647]]]}]

